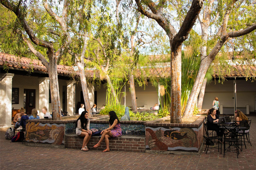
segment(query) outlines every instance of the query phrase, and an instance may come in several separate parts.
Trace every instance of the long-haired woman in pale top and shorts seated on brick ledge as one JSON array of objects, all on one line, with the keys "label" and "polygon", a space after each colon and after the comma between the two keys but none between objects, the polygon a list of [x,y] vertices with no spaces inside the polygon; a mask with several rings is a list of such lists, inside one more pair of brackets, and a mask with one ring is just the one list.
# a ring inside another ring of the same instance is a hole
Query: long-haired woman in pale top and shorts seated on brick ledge
[{"label": "long-haired woman in pale top and shorts seated on brick ledge", "polygon": [[88,151],[87,144],[91,139],[90,119],[87,111],[83,111],[76,121],[76,135],[84,137],[81,151]]}]

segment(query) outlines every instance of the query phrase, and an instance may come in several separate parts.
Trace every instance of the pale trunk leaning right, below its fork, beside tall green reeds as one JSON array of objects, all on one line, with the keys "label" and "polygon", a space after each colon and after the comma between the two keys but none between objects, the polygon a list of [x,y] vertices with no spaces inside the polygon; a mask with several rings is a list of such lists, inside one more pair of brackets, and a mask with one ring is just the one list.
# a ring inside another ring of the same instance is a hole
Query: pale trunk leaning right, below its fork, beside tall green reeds
[{"label": "pale trunk leaning right, below its fork, beside tall green reeds", "polygon": [[185,108],[185,112],[183,114],[183,117],[190,118],[193,115],[196,98],[198,97],[199,91],[202,87],[203,80],[205,78],[205,74],[210,67],[213,59],[204,57],[204,59],[201,61],[200,68],[198,71],[198,75],[196,76],[194,86],[192,88],[192,91],[190,93],[190,97],[187,102],[187,106]]}]

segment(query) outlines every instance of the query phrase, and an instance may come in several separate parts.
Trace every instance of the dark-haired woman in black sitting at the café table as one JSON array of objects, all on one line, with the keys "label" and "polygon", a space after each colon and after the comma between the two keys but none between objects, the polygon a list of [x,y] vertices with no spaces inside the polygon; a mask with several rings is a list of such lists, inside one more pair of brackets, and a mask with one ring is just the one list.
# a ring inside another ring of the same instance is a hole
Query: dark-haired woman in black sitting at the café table
[{"label": "dark-haired woman in black sitting at the caf\u00e9 table", "polygon": [[[207,127],[210,131],[215,131],[217,133],[217,136],[222,136],[223,131],[220,130],[220,127],[218,124],[214,124],[213,122],[218,122],[219,116],[216,114],[216,110],[214,108],[209,109],[207,114]],[[223,143],[223,140],[220,139],[221,143]]]}]

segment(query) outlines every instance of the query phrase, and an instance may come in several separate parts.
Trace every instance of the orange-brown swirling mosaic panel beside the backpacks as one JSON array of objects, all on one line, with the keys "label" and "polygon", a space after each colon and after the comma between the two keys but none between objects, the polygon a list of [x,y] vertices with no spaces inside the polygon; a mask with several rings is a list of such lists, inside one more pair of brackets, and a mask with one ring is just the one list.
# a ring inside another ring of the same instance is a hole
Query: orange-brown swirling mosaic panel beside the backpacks
[{"label": "orange-brown swirling mosaic panel beside the backpacks", "polygon": [[26,124],[26,142],[39,144],[64,145],[64,124]]}]

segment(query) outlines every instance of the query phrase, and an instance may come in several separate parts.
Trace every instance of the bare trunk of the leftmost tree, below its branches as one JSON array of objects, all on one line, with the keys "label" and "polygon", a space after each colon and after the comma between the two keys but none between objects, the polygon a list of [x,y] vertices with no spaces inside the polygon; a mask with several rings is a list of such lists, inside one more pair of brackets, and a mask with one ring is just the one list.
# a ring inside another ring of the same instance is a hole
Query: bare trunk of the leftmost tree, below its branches
[{"label": "bare trunk of the leftmost tree, below its branches", "polygon": [[54,54],[49,57],[49,80],[50,80],[50,90],[51,90],[51,105],[53,112],[53,120],[62,120],[61,117],[61,100],[60,100],[60,90],[58,83],[58,72],[57,72],[57,57]]}]

